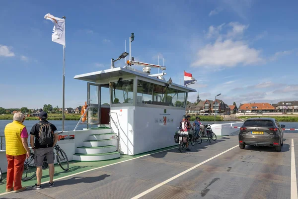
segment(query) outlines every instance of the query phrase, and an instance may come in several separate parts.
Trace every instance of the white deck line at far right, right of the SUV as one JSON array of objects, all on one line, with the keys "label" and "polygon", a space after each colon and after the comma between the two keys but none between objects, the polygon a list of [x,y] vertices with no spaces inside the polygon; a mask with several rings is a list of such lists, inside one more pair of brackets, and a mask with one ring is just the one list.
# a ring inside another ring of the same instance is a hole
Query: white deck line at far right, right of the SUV
[{"label": "white deck line at far right, right of the SUV", "polygon": [[292,139],[292,145],[291,145],[291,199],[298,199],[294,139]]}]

